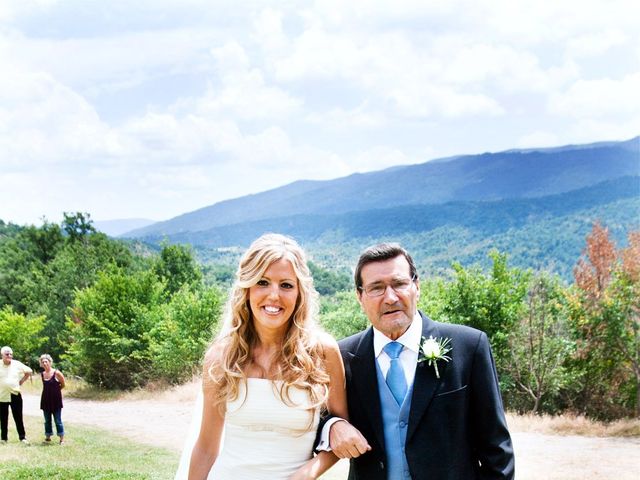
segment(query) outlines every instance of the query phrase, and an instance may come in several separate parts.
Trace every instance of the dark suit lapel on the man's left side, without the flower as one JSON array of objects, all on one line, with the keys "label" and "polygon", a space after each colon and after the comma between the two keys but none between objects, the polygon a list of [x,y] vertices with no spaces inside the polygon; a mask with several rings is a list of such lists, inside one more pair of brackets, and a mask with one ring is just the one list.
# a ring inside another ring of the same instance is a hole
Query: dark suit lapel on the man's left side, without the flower
[{"label": "dark suit lapel on the man's left side, without the flower", "polygon": [[358,348],[351,355],[351,382],[361,400],[358,408],[366,411],[379,445],[384,445],[382,426],[382,408],[378,392],[376,359],[373,351],[373,329],[369,328],[362,336]]}]

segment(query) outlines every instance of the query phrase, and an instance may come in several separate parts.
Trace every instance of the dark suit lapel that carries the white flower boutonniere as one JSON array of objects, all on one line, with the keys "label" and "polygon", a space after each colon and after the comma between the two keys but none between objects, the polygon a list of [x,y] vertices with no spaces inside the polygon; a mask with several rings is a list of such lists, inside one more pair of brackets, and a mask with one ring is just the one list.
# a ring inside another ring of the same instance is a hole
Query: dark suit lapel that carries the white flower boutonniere
[{"label": "dark suit lapel that carries the white flower boutonniere", "polygon": [[[420,313],[422,315],[422,313]],[[429,338],[439,337],[438,327],[435,322],[425,315],[422,315],[422,336]],[[429,367],[427,362],[420,362],[416,366],[416,375],[413,381],[413,395],[411,396],[411,410],[409,412],[409,430],[407,431],[407,441],[413,436],[420,423],[420,419],[425,414],[433,396],[442,381],[442,376],[446,369],[444,362],[438,364],[440,378],[436,377],[433,367]]]}]

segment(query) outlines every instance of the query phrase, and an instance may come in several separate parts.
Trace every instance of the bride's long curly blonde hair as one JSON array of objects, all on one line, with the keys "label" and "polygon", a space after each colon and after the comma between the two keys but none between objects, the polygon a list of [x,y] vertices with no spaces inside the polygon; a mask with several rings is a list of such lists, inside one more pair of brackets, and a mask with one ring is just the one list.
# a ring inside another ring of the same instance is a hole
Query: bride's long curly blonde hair
[{"label": "bride's long curly blonde hair", "polygon": [[[308,393],[309,410],[326,405],[329,375],[319,341],[320,330],[315,322],[319,310],[318,293],[306,256],[292,238],[269,233],[255,240],[240,260],[227,301],[223,328],[205,361],[204,388],[210,389],[214,403],[221,410],[227,400],[238,398],[241,383],[246,388],[244,371],[251,364],[252,350],[258,342],[249,305],[249,289],[274,262],[282,259],[291,262],[299,288],[288,330],[274,359],[273,376],[282,381],[279,395],[288,405],[295,405],[289,395],[291,388]],[[214,348],[218,352],[215,358],[210,354]]]}]

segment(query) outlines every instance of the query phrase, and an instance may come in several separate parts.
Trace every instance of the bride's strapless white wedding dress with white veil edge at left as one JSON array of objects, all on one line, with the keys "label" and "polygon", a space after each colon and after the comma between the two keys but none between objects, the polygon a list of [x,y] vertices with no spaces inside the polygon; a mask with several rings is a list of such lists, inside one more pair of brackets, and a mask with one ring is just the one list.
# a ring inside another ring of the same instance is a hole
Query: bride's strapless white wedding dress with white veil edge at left
[{"label": "bride's strapless white wedding dress with white veil edge at left", "polygon": [[[319,412],[305,409],[307,393],[290,389],[292,407],[280,399],[279,383],[260,378],[247,379],[238,399],[227,403],[222,450],[211,472],[215,480],[285,480],[311,458]],[[198,417],[202,413],[199,399]],[[191,450],[200,430],[194,419],[182,452],[176,480],[185,480]],[[195,432],[195,434],[194,434]]]}]

